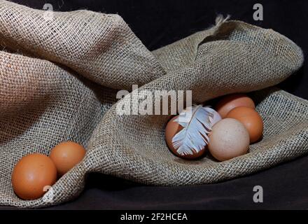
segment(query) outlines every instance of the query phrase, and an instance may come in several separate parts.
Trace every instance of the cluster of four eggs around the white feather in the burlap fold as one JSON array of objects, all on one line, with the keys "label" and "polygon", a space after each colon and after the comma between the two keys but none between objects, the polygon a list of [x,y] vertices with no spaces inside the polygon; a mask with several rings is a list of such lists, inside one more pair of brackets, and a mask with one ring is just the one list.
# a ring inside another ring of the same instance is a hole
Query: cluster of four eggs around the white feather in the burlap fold
[{"label": "cluster of four eggs around the white feather in the burlap fold", "polygon": [[253,100],[246,94],[230,94],[221,99],[215,106],[221,120],[211,127],[209,143],[202,150],[193,154],[180,154],[174,147],[172,139],[183,130],[175,120],[169,120],[165,128],[167,146],[175,155],[184,159],[196,159],[208,149],[216,160],[224,161],[247,153],[249,145],[262,138],[263,120],[255,111]]}]

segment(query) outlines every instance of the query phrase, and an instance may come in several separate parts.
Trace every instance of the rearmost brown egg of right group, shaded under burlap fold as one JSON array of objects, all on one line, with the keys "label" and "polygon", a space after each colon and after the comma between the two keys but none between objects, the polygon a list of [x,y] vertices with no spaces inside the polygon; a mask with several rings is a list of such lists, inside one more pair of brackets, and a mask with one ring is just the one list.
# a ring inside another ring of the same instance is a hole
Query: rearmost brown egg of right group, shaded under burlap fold
[{"label": "rearmost brown egg of right group, shaded under burlap fold", "polygon": [[216,104],[216,111],[221,115],[221,118],[226,118],[229,111],[238,107],[246,106],[255,109],[255,103],[246,94],[235,93],[223,97]]}]

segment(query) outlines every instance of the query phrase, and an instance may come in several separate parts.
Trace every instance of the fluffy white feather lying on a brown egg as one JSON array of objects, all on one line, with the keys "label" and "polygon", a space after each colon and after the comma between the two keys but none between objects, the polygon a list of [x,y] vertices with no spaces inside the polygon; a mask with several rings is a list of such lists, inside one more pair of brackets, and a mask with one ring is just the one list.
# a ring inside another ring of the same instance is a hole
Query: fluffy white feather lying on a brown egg
[{"label": "fluffy white feather lying on a brown egg", "polygon": [[172,144],[180,155],[198,153],[209,143],[207,134],[211,127],[221,120],[221,116],[208,106],[191,106],[183,110],[174,122],[183,130],[172,138]]}]

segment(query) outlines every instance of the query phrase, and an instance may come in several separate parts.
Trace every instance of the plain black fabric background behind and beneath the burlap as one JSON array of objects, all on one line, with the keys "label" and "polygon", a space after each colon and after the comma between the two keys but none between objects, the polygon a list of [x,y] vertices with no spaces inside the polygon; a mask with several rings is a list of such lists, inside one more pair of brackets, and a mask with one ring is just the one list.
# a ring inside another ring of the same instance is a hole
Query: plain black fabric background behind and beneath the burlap
[{"label": "plain black fabric background behind and beneath the burlap", "polygon": [[[33,8],[46,2],[14,0]],[[85,1],[50,0],[55,10],[87,8],[118,13],[150,50],[209,27],[218,13],[271,28],[308,50],[307,1]],[[262,3],[264,20],[253,20],[253,4]],[[280,87],[308,99],[307,62]],[[76,200],[48,209],[308,209],[308,156],[240,179],[203,186],[141,186],[102,174],[89,174]],[[253,202],[253,186],[262,186],[264,202]],[[0,209],[12,209],[0,207]]]}]

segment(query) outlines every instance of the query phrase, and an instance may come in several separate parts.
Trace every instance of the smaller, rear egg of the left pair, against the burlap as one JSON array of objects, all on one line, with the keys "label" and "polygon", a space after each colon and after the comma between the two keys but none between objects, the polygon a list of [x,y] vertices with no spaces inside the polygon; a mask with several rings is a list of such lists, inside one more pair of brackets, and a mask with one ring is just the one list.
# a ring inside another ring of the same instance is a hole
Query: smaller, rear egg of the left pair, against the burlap
[{"label": "smaller, rear egg of the left pair, against the burlap", "polygon": [[71,168],[78,164],[85,156],[85,148],[73,141],[65,141],[55,148],[49,155],[50,159],[55,163],[59,176],[64,175]]}]

